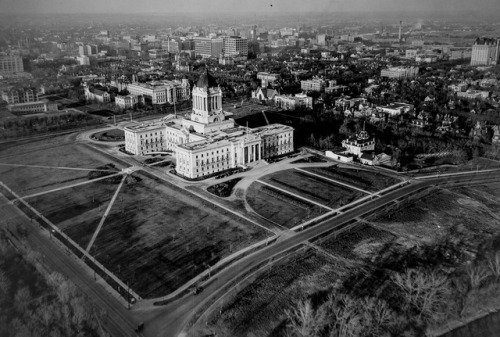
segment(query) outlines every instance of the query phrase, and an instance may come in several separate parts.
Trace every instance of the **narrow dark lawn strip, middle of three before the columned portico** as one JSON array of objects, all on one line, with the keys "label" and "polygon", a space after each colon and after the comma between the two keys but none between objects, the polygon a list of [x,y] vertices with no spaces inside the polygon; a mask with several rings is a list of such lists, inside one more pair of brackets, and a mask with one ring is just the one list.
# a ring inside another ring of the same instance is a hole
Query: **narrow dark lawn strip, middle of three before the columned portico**
[{"label": "narrow dark lawn strip, middle of three before the columned portico", "polygon": [[261,180],[332,208],[347,205],[365,195],[297,170],[277,172]]}]

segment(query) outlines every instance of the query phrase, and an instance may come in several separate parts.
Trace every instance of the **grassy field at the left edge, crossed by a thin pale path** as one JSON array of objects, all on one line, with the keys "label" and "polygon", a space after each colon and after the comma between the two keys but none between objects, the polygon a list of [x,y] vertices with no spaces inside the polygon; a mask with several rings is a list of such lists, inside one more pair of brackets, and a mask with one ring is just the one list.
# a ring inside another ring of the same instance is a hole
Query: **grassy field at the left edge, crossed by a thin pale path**
[{"label": "grassy field at the left edge, crossed by a thin pale path", "polygon": [[[28,144],[26,147],[19,146],[18,150],[17,154],[4,156],[4,151],[0,151],[0,180],[21,196],[85,181],[90,172],[89,169],[97,169],[112,162],[112,159],[80,144],[52,145],[42,148]],[[118,171],[121,166],[117,162],[113,163]]]}]

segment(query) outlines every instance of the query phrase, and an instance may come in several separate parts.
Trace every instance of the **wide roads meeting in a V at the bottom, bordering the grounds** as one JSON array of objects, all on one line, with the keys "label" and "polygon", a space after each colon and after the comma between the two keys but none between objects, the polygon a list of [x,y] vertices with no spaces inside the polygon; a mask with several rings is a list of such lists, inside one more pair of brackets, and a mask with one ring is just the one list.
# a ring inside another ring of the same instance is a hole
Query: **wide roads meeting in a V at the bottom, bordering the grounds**
[{"label": "wide roads meeting in a V at the bottom, bordering the grounds", "polygon": [[[146,169],[147,171],[147,169]],[[46,232],[42,232],[29,219],[21,214],[17,208],[10,205],[3,197],[0,197],[2,216],[5,221],[9,220],[9,227],[15,228],[16,222],[27,223],[32,227],[27,241],[35,249],[45,255],[45,263],[54,270],[58,270],[72,279],[79,288],[108,312],[104,322],[108,331],[113,336],[136,336],[134,327],[139,322],[145,323],[145,336],[174,337],[181,334],[186,328],[193,315],[202,309],[208,301],[213,301],[224,295],[227,288],[248,273],[252,268],[267,262],[270,258],[277,256],[289,249],[299,247],[302,243],[315,238],[327,231],[334,230],[354,220],[363,214],[376,210],[394,200],[403,198],[421,188],[440,184],[470,184],[475,182],[492,182],[500,177],[500,171],[495,172],[473,172],[466,175],[441,176],[427,180],[413,180],[409,185],[389,192],[380,197],[373,196],[372,200],[360,206],[349,209],[335,217],[322,221],[304,231],[285,236],[270,246],[242,258],[229,265],[218,274],[214,275],[206,285],[205,290],[194,296],[187,295],[163,307],[141,306],[138,303],[130,311],[124,306],[124,301],[115,298],[107,292],[106,288],[93,280],[88,268],[82,267],[76,259],[68,256],[65,249],[50,241]],[[5,214],[5,216],[4,216]]]}]

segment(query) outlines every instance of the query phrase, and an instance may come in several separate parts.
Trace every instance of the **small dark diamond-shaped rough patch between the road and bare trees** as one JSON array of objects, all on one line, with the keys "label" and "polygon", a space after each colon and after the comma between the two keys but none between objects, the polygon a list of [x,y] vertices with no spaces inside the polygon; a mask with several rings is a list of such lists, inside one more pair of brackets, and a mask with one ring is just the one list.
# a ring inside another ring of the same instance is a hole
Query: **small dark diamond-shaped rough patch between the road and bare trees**
[{"label": "small dark diamond-shaped rough patch between the road and bare trees", "polygon": [[347,259],[370,259],[395,235],[365,223],[358,224],[337,236],[322,239],[316,244]]}]

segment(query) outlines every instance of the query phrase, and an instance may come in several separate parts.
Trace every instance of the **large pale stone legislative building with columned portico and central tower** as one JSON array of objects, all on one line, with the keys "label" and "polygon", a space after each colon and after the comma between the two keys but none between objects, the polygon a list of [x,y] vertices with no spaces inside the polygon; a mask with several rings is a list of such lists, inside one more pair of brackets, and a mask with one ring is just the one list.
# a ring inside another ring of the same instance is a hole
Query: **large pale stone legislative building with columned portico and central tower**
[{"label": "large pale stone legislative building with columned portico and central tower", "polygon": [[190,116],[166,117],[125,127],[125,150],[135,155],[172,151],[176,171],[198,178],[293,152],[293,128],[270,124],[238,126],[222,110],[222,91],[205,70],[192,90]]}]

